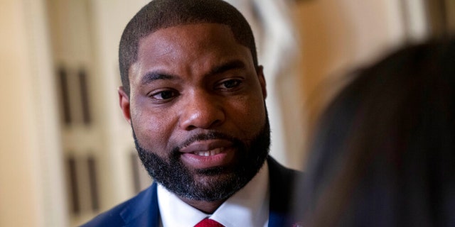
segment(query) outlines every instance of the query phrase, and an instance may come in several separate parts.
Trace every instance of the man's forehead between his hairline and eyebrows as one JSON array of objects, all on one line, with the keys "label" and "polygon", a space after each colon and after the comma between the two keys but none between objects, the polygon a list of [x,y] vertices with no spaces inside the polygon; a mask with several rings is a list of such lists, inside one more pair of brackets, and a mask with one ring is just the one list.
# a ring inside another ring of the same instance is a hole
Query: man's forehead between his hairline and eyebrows
[{"label": "man's forehead between his hairline and eyebrows", "polygon": [[232,60],[254,67],[250,50],[237,42],[228,26],[218,23],[172,26],[139,41],[137,62],[130,68],[130,77],[144,74],[144,70],[189,70],[195,65],[204,68]]}]

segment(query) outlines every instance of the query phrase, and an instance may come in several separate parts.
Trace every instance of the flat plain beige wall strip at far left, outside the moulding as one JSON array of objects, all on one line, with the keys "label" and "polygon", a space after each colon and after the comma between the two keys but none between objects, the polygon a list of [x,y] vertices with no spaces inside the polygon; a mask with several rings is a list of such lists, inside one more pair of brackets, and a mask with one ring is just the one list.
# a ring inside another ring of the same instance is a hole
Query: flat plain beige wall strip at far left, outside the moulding
[{"label": "flat plain beige wall strip at far left, outside the moulding", "polygon": [[[0,226],[34,226],[41,221],[36,194],[38,182],[33,171],[36,141],[28,131],[32,110],[25,92],[31,88],[27,81],[26,31],[16,26],[24,23],[21,7],[18,1],[2,1],[0,6],[0,74],[3,81],[0,89]],[[23,214],[28,218],[23,218]]]}]

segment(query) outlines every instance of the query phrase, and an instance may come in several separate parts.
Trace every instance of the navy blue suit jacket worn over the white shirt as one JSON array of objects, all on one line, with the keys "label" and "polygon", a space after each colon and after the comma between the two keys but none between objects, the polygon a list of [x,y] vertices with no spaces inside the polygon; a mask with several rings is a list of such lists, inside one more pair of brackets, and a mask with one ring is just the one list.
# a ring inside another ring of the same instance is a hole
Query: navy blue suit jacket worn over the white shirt
[{"label": "navy blue suit jacket worn over the white shirt", "polygon": [[[299,177],[301,172],[283,167],[272,157],[269,157],[267,162],[269,164],[270,182],[269,226],[289,226],[294,221],[289,219],[291,217],[291,195],[294,189],[294,179]],[[92,221],[85,223],[83,227],[158,227],[159,216],[156,183],[154,183],[132,199],[93,218]]]}]

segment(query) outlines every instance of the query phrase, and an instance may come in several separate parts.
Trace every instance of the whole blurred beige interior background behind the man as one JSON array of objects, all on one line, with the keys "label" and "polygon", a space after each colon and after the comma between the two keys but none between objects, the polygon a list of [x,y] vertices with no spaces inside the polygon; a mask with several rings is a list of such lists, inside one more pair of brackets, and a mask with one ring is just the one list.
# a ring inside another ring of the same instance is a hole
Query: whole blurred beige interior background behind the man
[{"label": "whole blurred beige interior background behind the man", "polygon": [[[146,0],[0,0],[0,226],[78,226],[151,179],[118,107],[117,50]],[[267,79],[271,153],[303,170],[343,75],[450,35],[451,0],[231,0]]]}]

